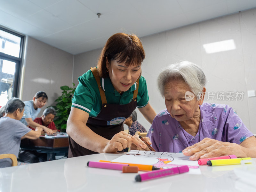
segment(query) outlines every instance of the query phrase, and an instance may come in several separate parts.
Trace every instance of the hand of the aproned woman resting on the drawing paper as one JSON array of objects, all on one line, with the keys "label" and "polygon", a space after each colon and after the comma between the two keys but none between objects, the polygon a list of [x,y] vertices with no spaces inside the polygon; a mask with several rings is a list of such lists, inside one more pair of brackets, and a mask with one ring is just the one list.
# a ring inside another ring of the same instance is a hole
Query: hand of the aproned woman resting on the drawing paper
[{"label": "hand of the aproned woman resting on the drawing paper", "polygon": [[139,148],[147,148],[147,145],[143,143],[142,140],[138,140],[136,137],[121,131],[116,133],[114,137],[106,143],[103,153],[122,151],[127,147],[131,147],[132,143]]}]

